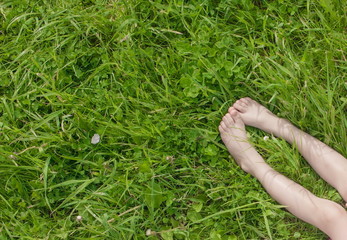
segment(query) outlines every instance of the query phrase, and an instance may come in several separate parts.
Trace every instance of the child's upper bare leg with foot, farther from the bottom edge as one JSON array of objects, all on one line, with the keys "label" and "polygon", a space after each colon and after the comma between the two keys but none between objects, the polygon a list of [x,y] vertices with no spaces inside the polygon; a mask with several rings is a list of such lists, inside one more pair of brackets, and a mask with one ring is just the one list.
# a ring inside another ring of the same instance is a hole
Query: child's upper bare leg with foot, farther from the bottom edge
[{"label": "child's upper bare leg with foot, farther from the bottom edge", "polygon": [[277,117],[250,98],[238,100],[233,107],[240,112],[246,125],[284,138],[289,143],[295,143],[315,171],[347,201],[347,159],[340,153],[296,128],[289,121]]}]

